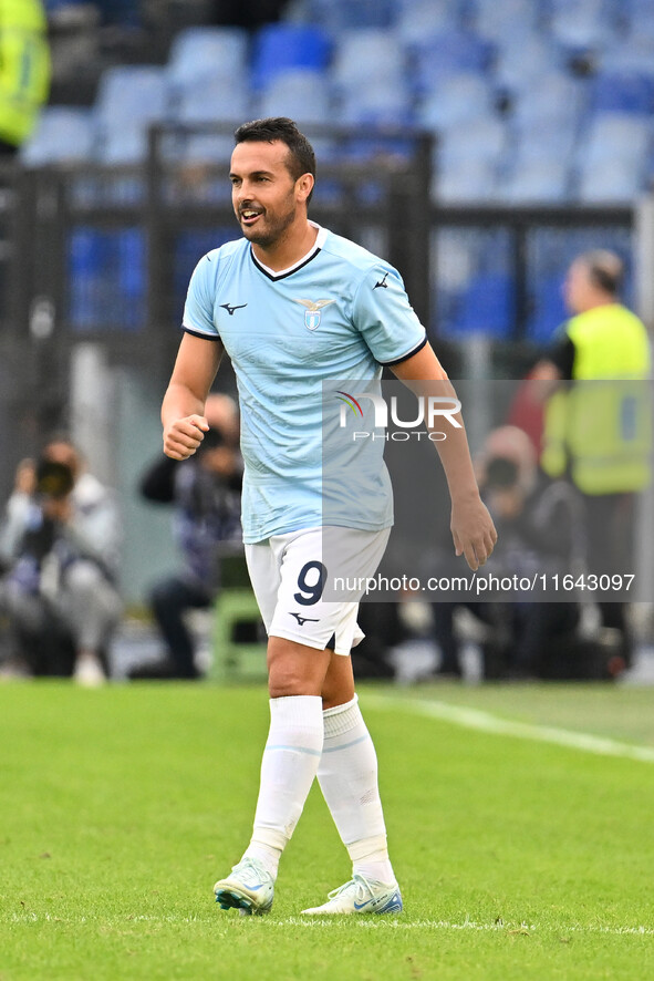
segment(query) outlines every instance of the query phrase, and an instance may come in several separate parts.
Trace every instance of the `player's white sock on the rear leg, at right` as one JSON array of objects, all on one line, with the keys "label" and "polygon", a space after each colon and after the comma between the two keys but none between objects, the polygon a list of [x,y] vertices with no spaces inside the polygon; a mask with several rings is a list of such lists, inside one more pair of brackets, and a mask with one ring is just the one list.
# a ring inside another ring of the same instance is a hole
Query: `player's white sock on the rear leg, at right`
[{"label": "player's white sock on the rear leg, at right", "polygon": [[318,779],[353,871],[394,882],[377,786],[377,756],[357,702],[354,695],[351,702],[322,713],[324,742]]}]

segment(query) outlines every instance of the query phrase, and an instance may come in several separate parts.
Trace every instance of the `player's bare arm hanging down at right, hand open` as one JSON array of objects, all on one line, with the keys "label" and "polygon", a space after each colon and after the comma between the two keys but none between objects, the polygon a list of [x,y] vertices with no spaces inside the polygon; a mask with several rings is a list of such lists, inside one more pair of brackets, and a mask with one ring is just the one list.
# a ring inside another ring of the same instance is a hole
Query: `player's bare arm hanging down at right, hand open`
[{"label": "player's bare arm hanging down at right, hand open", "polygon": [[[454,386],[429,344],[394,365],[393,372],[416,395],[438,394],[456,399]],[[470,569],[476,570],[492,553],[497,531],[479,496],[460,413],[454,417],[460,423],[460,428],[450,428],[447,440],[437,442],[436,447],[451,498],[450,528],[456,554],[465,555]]]}]

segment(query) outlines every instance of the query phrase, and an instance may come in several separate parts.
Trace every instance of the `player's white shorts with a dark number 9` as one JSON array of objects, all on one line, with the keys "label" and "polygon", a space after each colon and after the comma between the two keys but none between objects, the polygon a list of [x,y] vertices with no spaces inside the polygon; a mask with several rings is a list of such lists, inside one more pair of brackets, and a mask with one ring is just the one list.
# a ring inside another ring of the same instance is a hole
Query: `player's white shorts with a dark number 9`
[{"label": "player's white shorts with a dark number 9", "polygon": [[[346,540],[349,555],[356,556],[357,575],[364,579],[373,576],[391,529],[335,530]],[[356,622],[361,593],[355,602],[329,602],[322,598],[330,576],[322,561],[322,528],[303,528],[246,545],[246,559],[269,634],[316,650],[330,647],[336,654],[345,655],[363,640]]]}]

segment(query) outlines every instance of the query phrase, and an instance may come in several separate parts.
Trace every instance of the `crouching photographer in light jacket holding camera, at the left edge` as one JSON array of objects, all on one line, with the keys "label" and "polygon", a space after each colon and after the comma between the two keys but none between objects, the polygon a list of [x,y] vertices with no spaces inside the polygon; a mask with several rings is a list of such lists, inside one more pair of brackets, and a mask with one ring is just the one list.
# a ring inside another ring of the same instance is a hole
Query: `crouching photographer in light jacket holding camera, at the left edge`
[{"label": "crouching photographer in light jacket holding camera, at the left edge", "polygon": [[33,494],[4,528],[13,554],[3,592],[27,672],[95,686],[107,677],[107,646],[122,613],[108,536],[117,516],[108,492],[95,478],[84,482],[81,469],[68,440],[45,447]]}]

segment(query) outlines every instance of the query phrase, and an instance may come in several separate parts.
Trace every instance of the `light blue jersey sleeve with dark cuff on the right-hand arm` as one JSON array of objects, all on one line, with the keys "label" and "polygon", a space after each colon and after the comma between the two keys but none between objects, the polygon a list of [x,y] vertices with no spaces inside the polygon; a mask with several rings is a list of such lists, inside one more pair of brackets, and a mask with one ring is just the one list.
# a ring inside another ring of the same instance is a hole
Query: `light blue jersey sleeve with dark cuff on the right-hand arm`
[{"label": "light blue jersey sleeve with dark cuff on the right-hand arm", "polygon": [[392,266],[368,269],[353,304],[353,321],[380,364],[399,364],[427,343],[425,328]]}]

